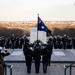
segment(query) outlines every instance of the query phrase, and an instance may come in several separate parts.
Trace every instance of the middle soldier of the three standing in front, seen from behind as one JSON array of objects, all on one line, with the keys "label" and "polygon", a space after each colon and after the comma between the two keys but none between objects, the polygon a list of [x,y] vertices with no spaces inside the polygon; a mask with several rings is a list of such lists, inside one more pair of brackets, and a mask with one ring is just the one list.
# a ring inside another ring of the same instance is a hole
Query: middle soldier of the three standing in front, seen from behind
[{"label": "middle soldier of the three standing in front, seen from behind", "polygon": [[41,47],[39,43],[34,47],[34,61],[35,61],[35,71],[36,73],[39,73],[39,68],[40,68],[40,59],[41,59]]}]

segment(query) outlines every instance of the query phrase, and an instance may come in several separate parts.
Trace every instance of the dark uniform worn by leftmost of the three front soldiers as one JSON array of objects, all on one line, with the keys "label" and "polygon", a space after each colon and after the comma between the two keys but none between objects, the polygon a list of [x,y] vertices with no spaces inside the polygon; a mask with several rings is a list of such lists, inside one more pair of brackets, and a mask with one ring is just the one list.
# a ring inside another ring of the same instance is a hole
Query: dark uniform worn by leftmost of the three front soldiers
[{"label": "dark uniform worn by leftmost of the three front soldiers", "polygon": [[26,66],[28,73],[31,73],[32,57],[33,57],[33,51],[28,47],[28,49],[26,49],[25,51]]}]

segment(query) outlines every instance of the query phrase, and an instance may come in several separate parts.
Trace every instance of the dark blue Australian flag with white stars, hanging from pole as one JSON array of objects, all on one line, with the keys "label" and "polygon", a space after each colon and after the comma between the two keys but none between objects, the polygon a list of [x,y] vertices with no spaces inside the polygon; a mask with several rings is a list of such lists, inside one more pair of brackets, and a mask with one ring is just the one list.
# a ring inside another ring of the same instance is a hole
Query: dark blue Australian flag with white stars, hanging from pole
[{"label": "dark blue Australian flag with white stars, hanging from pole", "polygon": [[47,33],[51,34],[51,30],[49,30],[46,25],[44,24],[44,22],[40,19],[40,17],[38,17],[38,31],[45,31]]}]

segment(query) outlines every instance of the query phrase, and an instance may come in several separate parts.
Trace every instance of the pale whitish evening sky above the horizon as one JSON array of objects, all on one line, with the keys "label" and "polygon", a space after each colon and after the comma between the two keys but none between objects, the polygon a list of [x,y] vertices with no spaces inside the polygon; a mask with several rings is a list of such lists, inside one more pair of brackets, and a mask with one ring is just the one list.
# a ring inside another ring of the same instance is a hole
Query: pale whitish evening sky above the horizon
[{"label": "pale whitish evening sky above the horizon", "polygon": [[75,0],[0,0],[0,21],[75,21]]}]

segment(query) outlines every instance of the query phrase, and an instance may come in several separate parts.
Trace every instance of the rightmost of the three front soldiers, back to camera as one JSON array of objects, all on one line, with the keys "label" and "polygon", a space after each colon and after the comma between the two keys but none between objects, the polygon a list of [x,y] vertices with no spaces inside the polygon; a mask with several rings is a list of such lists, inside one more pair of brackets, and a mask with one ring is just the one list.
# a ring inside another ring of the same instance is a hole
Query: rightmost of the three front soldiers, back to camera
[{"label": "rightmost of the three front soldiers, back to camera", "polygon": [[47,50],[47,45],[44,45],[44,49],[41,50],[41,54],[42,56],[42,62],[43,62],[43,72],[46,73],[47,72],[47,64],[48,64],[48,56],[49,56],[49,52]]}]

